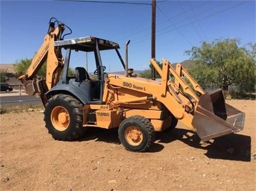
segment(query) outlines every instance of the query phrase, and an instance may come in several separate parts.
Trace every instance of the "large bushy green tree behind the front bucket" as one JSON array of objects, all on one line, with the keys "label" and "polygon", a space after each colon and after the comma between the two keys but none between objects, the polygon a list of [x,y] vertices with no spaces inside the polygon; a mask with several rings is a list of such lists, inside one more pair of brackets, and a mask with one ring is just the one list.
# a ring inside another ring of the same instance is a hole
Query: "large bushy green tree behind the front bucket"
[{"label": "large bushy green tree behind the front bucket", "polygon": [[212,43],[192,47],[185,53],[191,56],[195,65],[188,71],[199,84],[217,84],[224,90],[236,84],[240,92],[255,90],[255,45],[252,50],[239,47],[239,40],[215,40]]}]

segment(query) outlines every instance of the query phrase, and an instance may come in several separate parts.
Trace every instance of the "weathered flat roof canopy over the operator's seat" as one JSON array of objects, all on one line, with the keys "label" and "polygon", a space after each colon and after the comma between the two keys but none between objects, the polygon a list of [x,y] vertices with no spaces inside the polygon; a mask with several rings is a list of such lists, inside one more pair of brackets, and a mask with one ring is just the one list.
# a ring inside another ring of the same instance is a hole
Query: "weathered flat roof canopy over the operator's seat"
[{"label": "weathered flat roof canopy over the operator's seat", "polygon": [[96,50],[96,42],[98,42],[99,50],[111,50],[120,48],[118,43],[96,37],[80,37],[55,41],[54,46],[89,52]]}]

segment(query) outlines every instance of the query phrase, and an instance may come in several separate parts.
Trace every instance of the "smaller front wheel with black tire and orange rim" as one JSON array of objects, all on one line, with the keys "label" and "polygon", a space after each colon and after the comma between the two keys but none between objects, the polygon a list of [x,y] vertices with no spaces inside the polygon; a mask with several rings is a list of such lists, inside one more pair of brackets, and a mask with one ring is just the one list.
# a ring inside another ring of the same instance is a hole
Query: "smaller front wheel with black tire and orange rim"
[{"label": "smaller front wheel with black tire and orange rim", "polygon": [[154,143],[155,132],[150,120],[131,116],[121,122],[118,137],[127,150],[144,152]]}]

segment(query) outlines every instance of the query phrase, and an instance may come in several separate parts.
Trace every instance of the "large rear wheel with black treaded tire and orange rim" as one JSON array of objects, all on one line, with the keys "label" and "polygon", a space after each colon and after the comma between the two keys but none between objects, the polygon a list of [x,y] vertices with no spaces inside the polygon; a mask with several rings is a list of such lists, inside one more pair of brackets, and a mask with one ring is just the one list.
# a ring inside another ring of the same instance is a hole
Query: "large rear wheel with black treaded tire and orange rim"
[{"label": "large rear wheel with black treaded tire and orange rim", "polygon": [[70,95],[54,95],[45,105],[44,122],[55,140],[72,141],[81,137],[83,128],[82,104]]}]

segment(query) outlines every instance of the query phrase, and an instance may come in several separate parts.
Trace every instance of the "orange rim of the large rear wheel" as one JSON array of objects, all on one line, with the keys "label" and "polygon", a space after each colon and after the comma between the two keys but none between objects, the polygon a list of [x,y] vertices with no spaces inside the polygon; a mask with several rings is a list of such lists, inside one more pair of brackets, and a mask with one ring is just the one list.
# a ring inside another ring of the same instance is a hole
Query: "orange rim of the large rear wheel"
[{"label": "orange rim of the large rear wheel", "polygon": [[53,108],[50,114],[50,120],[52,125],[58,131],[65,131],[69,127],[70,117],[66,108],[62,106],[56,106]]}]

